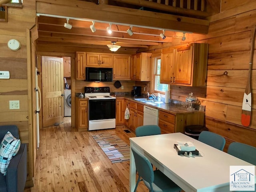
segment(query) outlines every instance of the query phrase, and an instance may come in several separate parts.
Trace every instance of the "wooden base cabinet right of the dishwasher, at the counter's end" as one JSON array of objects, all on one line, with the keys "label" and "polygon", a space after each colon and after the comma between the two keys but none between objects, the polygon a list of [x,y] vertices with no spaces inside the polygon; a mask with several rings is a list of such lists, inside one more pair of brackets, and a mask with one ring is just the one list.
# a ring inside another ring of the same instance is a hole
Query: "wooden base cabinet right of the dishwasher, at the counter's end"
[{"label": "wooden base cabinet right of the dishwasher, at the counter's end", "polygon": [[170,114],[159,111],[158,126],[161,133],[185,132],[188,125],[204,125],[204,112]]}]

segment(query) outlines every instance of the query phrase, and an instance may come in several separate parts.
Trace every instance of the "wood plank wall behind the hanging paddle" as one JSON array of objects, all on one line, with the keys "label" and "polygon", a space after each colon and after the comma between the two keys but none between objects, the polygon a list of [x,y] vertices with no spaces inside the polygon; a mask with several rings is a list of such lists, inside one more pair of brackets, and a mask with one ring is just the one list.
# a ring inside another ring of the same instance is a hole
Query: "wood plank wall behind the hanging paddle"
[{"label": "wood plank wall behind the hanging paddle", "polygon": [[[222,1],[222,10],[209,18],[207,35],[188,34],[186,43],[208,43],[207,86],[171,86],[171,98],[185,100],[190,92],[206,106],[205,124],[210,131],[231,142],[256,147],[256,54],[252,64],[252,117],[249,127],[241,124],[242,100],[247,82],[251,31],[256,25],[256,1]],[[254,42],[255,48],[255,42]]]}]

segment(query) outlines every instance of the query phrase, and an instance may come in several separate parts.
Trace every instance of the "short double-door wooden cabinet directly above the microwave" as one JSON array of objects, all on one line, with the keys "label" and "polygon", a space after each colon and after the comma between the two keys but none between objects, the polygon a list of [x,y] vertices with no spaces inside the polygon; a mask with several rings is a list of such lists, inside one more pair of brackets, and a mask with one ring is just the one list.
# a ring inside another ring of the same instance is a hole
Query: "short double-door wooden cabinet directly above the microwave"
[{"label": "short double-door wooden cabinet directly above the microwave", "polygon": [[112,54],[87,53],[86,66],[88,67],[113,67]]}]

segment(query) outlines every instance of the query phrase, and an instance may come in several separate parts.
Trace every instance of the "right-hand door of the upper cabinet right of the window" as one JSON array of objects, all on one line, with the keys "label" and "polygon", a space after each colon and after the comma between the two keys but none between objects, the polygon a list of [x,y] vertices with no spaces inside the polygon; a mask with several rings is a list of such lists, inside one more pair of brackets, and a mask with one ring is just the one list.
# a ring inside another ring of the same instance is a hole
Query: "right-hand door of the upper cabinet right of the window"
[{"label": "right-hand door of the upper cabinet right of the window", "polygon": [[193,46],[177,49],[175,54],[174,83],[191,84]]}]

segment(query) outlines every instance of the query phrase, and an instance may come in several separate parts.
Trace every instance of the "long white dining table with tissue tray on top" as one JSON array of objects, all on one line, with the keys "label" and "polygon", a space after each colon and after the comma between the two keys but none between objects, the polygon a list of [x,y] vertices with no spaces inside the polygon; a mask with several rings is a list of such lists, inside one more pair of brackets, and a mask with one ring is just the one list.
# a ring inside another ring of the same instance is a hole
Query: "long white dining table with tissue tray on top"
[{"label": "long white dining table with tissue tray on top", "polygon": [[[193,142],[199,156],[178,155],[174,149],[177,140]],[[130,146],[186,192],[229,192],[230,166],[252,165],[182,133],[134,137],[130,138]],[[134,191],[135,180],[136,167],[130,150],[130,192]]]}]

